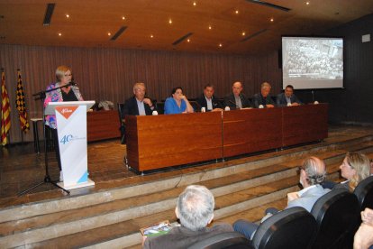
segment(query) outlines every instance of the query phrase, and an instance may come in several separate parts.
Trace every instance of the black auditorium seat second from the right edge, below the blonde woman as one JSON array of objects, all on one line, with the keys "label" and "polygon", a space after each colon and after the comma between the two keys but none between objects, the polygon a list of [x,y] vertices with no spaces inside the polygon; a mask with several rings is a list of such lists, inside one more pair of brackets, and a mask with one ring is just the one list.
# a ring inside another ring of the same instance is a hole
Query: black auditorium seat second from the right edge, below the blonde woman
[{"label": "black auditorium seat second from the right edge, below the blonde woman", "polygon": [[348,189],[332,189],[311,210],[318,232],[312,248],[352,248],[360,223],[358,198]]}]

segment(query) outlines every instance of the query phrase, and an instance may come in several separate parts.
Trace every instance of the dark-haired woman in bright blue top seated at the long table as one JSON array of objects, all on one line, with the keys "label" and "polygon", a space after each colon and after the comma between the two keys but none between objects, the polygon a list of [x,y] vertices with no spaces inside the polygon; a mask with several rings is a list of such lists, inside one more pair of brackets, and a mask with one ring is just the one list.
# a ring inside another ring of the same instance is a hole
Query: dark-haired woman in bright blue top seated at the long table
[{"label": "dark-haired woman in bright blue top seated at the long table", "polygon": [[168,114],[187,114],[193,113],[193,107],[190,105],[187,97],[183,95],[183,88],[173,88],[172,97],[168,97],[165,102],[165,115]]}]

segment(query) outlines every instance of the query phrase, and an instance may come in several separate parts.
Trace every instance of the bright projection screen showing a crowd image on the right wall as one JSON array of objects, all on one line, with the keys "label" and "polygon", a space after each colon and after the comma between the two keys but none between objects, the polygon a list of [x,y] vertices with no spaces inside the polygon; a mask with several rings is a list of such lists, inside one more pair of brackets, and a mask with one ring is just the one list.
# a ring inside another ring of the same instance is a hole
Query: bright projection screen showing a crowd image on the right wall
[{"label": "bright projection screen showing a crowd image on the right wall", "polygon": [[342,87],[342,39],[283,37],[282,49],[284,81],[308,84],[301,88]]}]

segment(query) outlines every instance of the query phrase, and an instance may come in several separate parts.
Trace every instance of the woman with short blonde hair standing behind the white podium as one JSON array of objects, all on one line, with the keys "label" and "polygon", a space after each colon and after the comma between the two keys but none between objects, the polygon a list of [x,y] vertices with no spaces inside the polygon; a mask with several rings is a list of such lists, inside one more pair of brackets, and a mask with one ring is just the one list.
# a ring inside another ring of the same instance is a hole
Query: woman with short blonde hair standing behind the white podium
[{"label": "woman with short blonde hair standing behind the white podium", "polygon": [[[51,83],[46,93],[44,100],[44,107],[48,106],[50,102],[62,102],[62,101],[83,101],[83,97],[80,94],[79,88],[72,82],[72,70],[67,66],[59,66],[56,69],[56,83]],[[62,87],[62,88],[61,88]],[[59,158],[59,138],[57,134],[57,124],[55,115],[47,115],[45,117],[45,124],[48,125],[52,131],[53,143],[56,150],[56,158],[59,164],[59,180],[62,181],[61,174],[61,160]]]}]

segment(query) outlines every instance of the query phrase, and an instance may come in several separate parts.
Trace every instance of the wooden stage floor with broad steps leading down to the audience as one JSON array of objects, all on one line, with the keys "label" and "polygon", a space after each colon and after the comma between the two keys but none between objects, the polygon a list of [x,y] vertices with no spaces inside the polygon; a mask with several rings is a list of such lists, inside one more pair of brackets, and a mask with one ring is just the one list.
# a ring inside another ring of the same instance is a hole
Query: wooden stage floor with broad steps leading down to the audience
[{"label": "wooden stage floor with broad steps leading down to the audience", "polygon": [[[203,165],[150,171],[129,171],[119,140],[88,144],[89,178],[95,187],[72,189],[70,196],[43,185],[18,198],[44,177],[44,155],[32,144],[13,145],[0,152],[0,247],[141,248],[139,228],[168,219],[176,221],[177,195],[189,184],[203,184],[215,196],[214,222],[232,224],[238,218],[259,220],[264,208],[286,206],[287,192],[298,190],[297,166],[307,155],[323,158],[330,180],[340,180],[346,152],[373,158],[373,127],[330,126],[321,143],[302,144],[210,161]],[[59,179],[54,152],[50,177]]]}]

